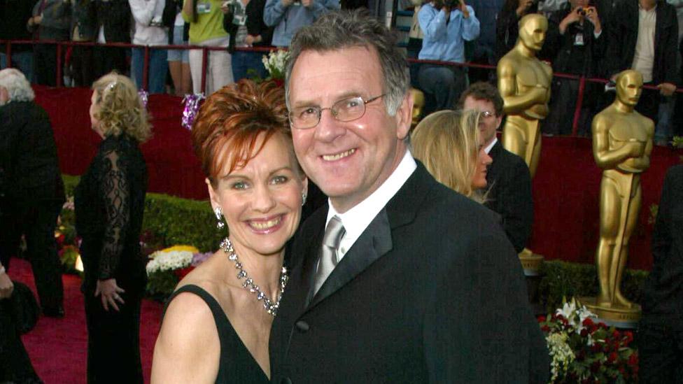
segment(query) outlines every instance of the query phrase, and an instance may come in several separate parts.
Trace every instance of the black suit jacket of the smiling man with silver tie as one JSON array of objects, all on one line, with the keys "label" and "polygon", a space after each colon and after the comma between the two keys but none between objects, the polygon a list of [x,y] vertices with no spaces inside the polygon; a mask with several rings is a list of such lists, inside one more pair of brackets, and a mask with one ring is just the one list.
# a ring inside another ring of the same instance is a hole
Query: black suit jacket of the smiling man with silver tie
[{"label": "black suit jacket of the smiling man with silver tie", "polygon": [[495,213],[418,163],[308,302],[327,211],[293,245],[274,383],[547,382],[547,347]]}]

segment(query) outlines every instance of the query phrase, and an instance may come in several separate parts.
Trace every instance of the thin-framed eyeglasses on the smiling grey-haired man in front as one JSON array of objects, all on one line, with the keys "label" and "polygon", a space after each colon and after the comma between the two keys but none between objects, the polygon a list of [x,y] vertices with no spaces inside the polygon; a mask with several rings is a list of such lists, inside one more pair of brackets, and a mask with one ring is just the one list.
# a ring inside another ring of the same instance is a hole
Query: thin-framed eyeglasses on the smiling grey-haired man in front
[{"label": "thin-framed eyeglasses on the smiling grey-haired man in front", "polygon": [[376,99],[383,97],[384,94],[363,100],[360,96],[347,97],[341,99],[330,108],[320,108],[317,106],[302,106],[293,108],[289,113],[289,122],[296,129],[309,129],[318,125],[321,115],[325,109],[329,109],[332,117],[340,122],[358,120],[365,115],[365,104],[372,103]]}]

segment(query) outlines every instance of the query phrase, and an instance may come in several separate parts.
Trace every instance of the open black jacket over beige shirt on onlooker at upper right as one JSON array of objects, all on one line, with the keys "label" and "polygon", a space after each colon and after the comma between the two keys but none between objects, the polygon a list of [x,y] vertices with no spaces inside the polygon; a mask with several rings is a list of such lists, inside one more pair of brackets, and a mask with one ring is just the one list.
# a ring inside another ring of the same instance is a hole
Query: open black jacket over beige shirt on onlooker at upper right
[{"label": "open black jacket over beige shirt on onlooker at upper right", "polygon": [[[630,69],[638,41],[638,0],[621,0],[614,7],[607,25],[609,34],[607,59],[609,73]],[[657,1],[656,25],[654,28],[654,66],[652,83],[677,84],[676,54],[678,43],[678,19],[676,9],[663,0]]]}]

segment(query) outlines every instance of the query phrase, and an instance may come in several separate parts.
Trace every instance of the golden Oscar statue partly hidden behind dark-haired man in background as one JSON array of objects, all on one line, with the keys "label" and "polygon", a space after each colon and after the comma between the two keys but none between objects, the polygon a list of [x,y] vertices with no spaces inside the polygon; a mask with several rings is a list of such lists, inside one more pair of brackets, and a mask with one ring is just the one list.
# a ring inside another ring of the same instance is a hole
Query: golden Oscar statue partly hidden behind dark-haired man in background
[{"label": "golden Oscar statue partly hidden behind dark-haired man in background", "polygon": [[[519,155],[536,173],[541,155],[540,120],[548,115],[551,67],[536,58],[543,47],[548,20],[536,13],[519,20],[519,37],[514,48],[498,62],[498,90],[507,115],[502,129],[502,146]],[[543,257],[528,249],[519,253],[527,276],[538,273]]]}]

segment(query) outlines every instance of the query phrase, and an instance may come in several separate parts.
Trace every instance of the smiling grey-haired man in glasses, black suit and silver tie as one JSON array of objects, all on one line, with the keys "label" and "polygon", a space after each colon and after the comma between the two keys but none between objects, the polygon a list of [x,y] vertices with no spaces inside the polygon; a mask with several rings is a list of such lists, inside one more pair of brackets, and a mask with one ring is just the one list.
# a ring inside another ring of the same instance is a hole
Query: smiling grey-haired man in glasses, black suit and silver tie
[{"label": "smiling grey-haired man in glasses, black suit and silver tie", "polygon": [[549,356],[495,215],[410,154],[409,70],[362,12],[290,45],[297,157],[328,195],[293,243],[275,383],[547,382]]}]

